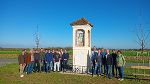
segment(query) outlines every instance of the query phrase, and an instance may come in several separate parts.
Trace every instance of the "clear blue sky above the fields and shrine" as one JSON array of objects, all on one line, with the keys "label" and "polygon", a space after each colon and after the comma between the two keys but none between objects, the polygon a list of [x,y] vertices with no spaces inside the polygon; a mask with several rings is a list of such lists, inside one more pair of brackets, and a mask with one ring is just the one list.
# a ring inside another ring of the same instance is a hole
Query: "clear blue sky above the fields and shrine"
[{"label": "clear blue sky above the fields and shrine", "polygon": [[72,46],[70,23],[85,17],[94,25],[92,46],[139,48],[133,31],[141,22],[150,30],[149,4],[150,0],[0,0],[0,47],[35,47],[37,25],[40,47]]}]

